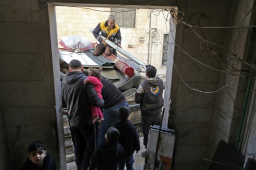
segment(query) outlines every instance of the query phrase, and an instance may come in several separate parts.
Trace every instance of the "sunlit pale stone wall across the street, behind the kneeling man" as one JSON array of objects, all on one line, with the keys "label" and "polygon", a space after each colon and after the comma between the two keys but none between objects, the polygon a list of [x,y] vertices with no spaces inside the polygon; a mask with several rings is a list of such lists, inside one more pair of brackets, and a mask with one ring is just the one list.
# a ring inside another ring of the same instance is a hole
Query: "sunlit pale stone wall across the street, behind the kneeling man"
[{"label": "sunlit pale stone wall across the street, behind the kneeling man", "polygon": [[[58,40],[66,35],[80,35],[86,37],[91,42],[96,42],[89,29],[94,28],[100,21],[106,20],[111,8],[90,8],[57,6]],[[137,9],[135,27],[120,28],[122,36],[121,46],[144,63],[153,64],[156,68],[159,68],[161,67],[163,35],[168,33],[169,30],[169,24],[165,25],[165,19],[169,18],[170,15],[167,16],[167,11],[154,10],[151,14],[150,12],[150,9]],[[157,31],[155,31],[156,37],[154,38],[152,37],[154,30],[150,30],[150,41],[148,41],[150,28],[157,28]],[[140,37],[144,39],[144,42],[139,41]],[[61,48],[62,46],[59,45],[59,47]]]}]

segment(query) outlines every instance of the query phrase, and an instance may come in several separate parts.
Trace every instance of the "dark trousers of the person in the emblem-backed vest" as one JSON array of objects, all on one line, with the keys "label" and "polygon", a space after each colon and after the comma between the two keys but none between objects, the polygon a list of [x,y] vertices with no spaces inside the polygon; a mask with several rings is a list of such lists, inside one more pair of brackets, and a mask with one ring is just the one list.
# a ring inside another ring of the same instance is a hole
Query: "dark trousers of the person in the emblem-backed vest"
[{"label": "dark trousers of the person in the emblem-backed vest", "polygon": [[143,134],[143,145],[147,146],[148,134],[151,125],[159,125],[161,121],[161,108],[153,111],[141,111],[141,129]]}]

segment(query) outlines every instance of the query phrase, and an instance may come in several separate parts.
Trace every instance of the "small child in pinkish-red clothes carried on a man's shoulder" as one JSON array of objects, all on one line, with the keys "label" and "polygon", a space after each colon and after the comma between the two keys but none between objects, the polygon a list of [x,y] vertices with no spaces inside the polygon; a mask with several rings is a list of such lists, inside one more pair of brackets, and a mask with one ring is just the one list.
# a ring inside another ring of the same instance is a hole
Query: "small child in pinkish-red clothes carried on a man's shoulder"
[{"label": "small child in pinkish-red clothes carried on a man's shoulder", "polygon": [[[102,83],[101,83],[101,74],[100,74],[100,70],[99,69],[94,69],[92,67],[90,67],[90,72],[88,73],[88,77],[86,79],[83,80],[83,83],[91,83],[93,84],[94,90],[96,91],[98,97],[100,99],[102,99],[102,95],[101,95],[101,89],[103,87]],[[90,106],[91,109],[91,116],[93,117],[93,121],[92,124],[94,124],[96,121],[101,122],[103,121],[103,114],[100,110],[100,108],[95,107],[95,106]]]}]

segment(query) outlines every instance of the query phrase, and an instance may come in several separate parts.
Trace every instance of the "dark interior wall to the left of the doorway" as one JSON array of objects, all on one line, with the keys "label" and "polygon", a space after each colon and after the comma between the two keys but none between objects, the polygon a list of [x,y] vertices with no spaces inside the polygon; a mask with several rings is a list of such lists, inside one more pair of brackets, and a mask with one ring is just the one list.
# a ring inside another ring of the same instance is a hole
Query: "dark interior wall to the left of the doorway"
[{"label": "dark interior wall to the left of the doorway", "polygon": [[34,140],[45,142],[58,163],[47,4],[0,0],[0,28],[0,125],[4,126],[12,162],[4,170],[17,170]]}]

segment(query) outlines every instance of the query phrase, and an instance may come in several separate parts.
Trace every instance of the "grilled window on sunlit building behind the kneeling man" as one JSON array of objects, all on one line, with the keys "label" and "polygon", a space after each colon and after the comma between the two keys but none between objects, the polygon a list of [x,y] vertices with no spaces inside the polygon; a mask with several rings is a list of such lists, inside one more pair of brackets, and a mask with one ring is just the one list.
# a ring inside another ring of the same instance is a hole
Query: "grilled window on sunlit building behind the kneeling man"
[{"label": "grilled window on sunlit building behind the kneeling man", "polygon": [[115,15],[119,27],[135,28],[136,9],[111,8],[111,14]]}]

